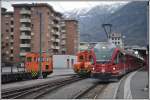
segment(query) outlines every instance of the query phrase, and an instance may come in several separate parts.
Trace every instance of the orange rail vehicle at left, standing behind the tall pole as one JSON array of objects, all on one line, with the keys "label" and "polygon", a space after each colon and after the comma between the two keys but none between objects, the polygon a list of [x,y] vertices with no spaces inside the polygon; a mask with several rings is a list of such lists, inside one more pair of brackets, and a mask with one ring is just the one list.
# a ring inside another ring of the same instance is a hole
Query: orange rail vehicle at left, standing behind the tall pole
[{"label": "orange rail vehicle at left, standing behind the tall pole", "polygon": [[[32,77],[37,78],[39,72],[40,54],[39,53],[27,53],[25,60],[25,69],[31,73]],[[47,77],[53,72],[52,57],[46,53],[42,53],[41,70],[43,77]]]}]

